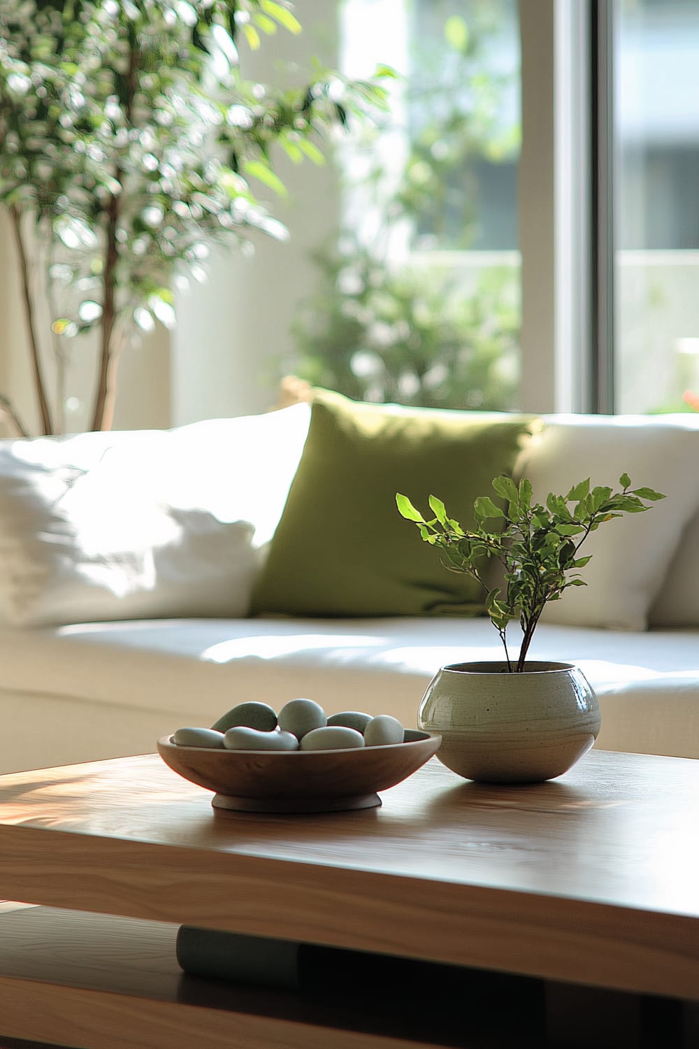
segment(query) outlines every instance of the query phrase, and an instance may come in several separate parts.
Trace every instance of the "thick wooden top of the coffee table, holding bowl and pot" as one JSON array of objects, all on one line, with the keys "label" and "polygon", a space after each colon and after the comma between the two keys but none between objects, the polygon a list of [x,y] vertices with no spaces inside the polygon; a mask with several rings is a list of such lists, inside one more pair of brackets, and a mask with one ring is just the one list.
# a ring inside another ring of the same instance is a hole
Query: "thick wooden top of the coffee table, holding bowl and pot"
[{"label": "thick wooden top of the coffee table, holding bowl and pot", "polygon": [[321,815],[211,797],[153,754],[2,776],[0,896],[699,998],[699,762],[490,787],[433,758]]}]

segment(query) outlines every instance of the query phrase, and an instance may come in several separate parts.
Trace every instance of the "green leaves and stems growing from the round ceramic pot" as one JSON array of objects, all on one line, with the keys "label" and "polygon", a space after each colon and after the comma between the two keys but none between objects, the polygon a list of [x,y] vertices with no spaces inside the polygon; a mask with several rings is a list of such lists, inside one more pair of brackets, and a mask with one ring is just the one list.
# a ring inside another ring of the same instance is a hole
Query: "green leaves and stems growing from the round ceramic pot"
[{"label": "green leaves and stems growing from the round ceramic pot", "polygon": [[[516,485],[511,477],[496,477],[498,496],[480,496],[474,502],[476,528],[472,531],[447,516],[443,502],[430,496],[435,515],[425,519],[406,495],[396,494],[398,512],[417,526],[424,542],[434,547],[442,563],[452,572],[476,579],[485,593],[485,607],[498,630],[510,670],[525,669],[526,654],[544,607],[559,601],[569,586],[585,586],[580,569],[590,560],[580,549],[591,532],[624,514],[643,513],[647,502],[663,499],[652,488],[631,488],[629,475],[619,477],[621,490],[590,488],[590,480],[573,485],[566,495],[546,496],[546,506],[533,501],[527,478]],[[505,591],[489,590],[483,578],[488,559],[504,569]],[[514,664],[507,650],[505,631],[511,619],[519,619],[523,639]]]}]

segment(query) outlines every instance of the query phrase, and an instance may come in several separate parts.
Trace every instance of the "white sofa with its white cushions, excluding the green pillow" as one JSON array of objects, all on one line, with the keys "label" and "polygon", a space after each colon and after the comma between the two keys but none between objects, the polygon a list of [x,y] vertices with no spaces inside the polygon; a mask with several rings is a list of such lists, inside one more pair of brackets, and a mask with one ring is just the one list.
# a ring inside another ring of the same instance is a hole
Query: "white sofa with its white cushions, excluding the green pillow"
[{"label": "white sofa with its white cushions, excluding the green pillow", "polygon": [[[250,617],[310,411],[0,442],[0,772],[152,751],[244,700],[414,726],[439,666],[501,658],[483,617]],[[515,469],[540,497],[627,471],[668,498],[590,537],[530,657],[582,667],[597,746],[699,757],[699,416],[544,424]]]}]

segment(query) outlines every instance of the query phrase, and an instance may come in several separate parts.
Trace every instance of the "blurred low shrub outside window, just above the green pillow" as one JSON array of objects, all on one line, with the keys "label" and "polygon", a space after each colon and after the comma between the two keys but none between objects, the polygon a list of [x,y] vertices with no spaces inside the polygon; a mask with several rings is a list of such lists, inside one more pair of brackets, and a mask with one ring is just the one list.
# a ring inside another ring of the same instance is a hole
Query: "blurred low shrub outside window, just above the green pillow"
[{"label": "blurred low shrub outside window, just above the green pillow", "polygon": [[482,271],[473,291],[425,265],[396,267],[353,243],[315,256],[319,284],[283,362],[357,401],[435,408],[517,407],[519,280]]}]

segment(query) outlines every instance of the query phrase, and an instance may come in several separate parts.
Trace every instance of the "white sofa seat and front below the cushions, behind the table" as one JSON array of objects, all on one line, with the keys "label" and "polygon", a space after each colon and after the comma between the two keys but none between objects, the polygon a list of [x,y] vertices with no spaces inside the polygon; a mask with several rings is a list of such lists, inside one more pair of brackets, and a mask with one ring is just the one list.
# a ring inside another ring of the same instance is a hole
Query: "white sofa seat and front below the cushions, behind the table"
[{"label": "white sofa seat and front below the cushions, behind the table", "polygon": [[[598,746],[699,754],[696,631],[625,634],[620,645],[612,631],[542,624],[531,657],[583,669],[600,701]],[[150,620],[0,629],[0,770],[152,751],[158,735],[211,725],[245,700],[279,709],[303,695],[328,712],[392,713],[410,727],[441,665],[500,658],[500,640],[485,619]]]}]

